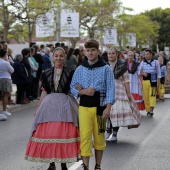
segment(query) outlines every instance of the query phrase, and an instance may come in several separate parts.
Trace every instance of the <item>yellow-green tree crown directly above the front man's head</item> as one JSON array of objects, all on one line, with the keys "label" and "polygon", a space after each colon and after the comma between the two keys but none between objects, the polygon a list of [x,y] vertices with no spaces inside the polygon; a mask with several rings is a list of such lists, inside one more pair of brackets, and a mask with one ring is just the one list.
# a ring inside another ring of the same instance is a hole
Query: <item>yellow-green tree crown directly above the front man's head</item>
[{"label": "yellow-green tree crown directly above the front man's head", "polygon": [[[80,33],[89,38],[95,37],[96,30],[112,27],[120,7],[119,0],[63,0],[61,5],[63,11],[79,13]],[[73,47],[79,39],[69,38]]]}]

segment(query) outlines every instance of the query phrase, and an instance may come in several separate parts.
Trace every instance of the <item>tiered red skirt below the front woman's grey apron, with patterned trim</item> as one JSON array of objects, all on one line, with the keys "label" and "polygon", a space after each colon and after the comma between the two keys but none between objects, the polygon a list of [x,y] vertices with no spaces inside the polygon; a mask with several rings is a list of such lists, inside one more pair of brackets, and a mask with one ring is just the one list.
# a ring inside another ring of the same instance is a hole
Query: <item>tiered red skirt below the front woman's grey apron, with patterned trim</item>
[{"label": "tiered red skirt below the front woman's grey apron, with patterned trim", "polygon": [[33,162],[76,162],[80,158],[79,130],[71,122],[38,124],[30,138],[25,159]]}]

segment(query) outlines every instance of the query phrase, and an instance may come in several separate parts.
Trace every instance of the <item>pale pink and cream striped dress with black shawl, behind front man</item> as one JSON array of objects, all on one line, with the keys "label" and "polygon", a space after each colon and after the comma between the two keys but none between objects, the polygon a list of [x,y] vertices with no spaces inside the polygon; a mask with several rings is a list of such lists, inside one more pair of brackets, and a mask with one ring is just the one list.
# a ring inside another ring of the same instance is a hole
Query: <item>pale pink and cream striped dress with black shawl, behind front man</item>
[{"label": "pale pink and cream striped dress with black shawl, behind front man", "polygon": [[135,128],[140,125],[141,115],[133,97],[129,101],[125,83],[130,82],[127,67],[120,60],[110,63],[115,76],[115,104],[112,105],[110,120],[112,127]]}]

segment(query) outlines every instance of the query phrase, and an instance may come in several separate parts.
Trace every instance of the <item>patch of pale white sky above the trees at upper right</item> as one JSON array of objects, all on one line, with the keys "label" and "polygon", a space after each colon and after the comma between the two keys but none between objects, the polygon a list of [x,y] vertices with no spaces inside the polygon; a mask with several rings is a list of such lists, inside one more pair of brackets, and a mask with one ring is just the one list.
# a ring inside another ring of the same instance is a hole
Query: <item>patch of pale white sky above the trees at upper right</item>
[{"label": "patch of pale white sky above the trees at upper right", "polygon": [[134,9],[134,14],[161,7],[170,8],[170,0],[121,0],[123,6]]}]

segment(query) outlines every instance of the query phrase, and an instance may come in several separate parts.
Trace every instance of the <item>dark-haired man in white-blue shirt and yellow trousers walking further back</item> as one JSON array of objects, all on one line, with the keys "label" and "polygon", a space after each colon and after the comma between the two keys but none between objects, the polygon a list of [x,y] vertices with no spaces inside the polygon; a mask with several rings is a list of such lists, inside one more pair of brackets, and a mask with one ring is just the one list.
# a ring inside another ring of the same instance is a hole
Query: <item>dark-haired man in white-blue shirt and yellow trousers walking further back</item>
[{"label": "dark-haired man in white-blue shirt and yellow trousers walking further back", "polygon": [[152,58],[152,51],[145,50],[145,59],[141,62],[139,72],[143,76],[143,95],[147,115],[153,116],[156,106],[156,93],[160,85],[161,70],[157,60]]}]

